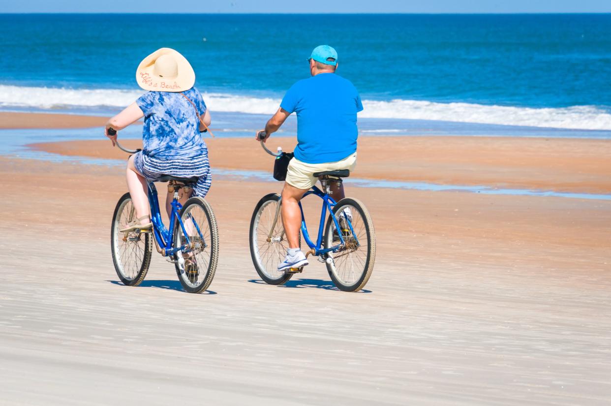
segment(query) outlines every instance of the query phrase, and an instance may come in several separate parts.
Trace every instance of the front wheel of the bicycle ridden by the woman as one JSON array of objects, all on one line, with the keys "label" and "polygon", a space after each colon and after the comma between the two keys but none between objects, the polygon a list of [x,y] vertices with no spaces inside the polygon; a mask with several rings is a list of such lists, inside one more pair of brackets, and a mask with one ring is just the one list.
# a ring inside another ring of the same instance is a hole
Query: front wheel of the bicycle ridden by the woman
[{"label": "front wheel of the bicycle ridden by the woman", "polygon": [[153,250],[152,231],[120,232],[119,230],[136,218],[136,211],[129,193],[123,194],[112,215],[111,251],[112,262],[121,282],[137,286],[147,276]]}]

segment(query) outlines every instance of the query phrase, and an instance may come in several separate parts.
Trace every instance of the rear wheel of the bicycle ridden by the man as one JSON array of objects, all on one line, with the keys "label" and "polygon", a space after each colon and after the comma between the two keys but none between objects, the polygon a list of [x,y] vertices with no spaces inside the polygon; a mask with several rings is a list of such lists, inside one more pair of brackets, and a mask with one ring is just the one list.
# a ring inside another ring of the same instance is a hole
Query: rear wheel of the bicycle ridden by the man
[{"label": "rear wheel of the bicycle ridden by the man", "polygon": [[[347,211],[345,211],[348,209]],[[340,224],[337,231],[329,215],[324,227],[324,246],[331,248],[340,243],[338,232],[342,233],[345,245],[327,254],[327,271],[335,286],[345,292],[363,289],[373,272],[376,258],[376,237],[373,221],[365,205],[357,199],[342,199],[333,208]],[[345,213],[340,215],[340,213]],[[340,217],[347,217],[349,221]],[[351,218],[351,220],[350,220]]]}]

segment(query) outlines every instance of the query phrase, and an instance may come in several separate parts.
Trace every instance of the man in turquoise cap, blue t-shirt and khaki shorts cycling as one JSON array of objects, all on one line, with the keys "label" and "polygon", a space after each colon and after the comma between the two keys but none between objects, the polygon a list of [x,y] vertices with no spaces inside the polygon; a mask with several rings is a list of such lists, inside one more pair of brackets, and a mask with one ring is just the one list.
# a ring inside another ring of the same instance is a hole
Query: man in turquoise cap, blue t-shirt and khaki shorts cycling
[{"label": "man in turquoise cap, blue t-shirt and khaki shorts cycling", "polygon": [[[298,143],[282,190],[282,223],[289,249],[279,271],[308,265],[299,249],[299,201],[318,180],[313,174],[352,171],[356,164],[356,114],[363,109],[359,93],[349,80],[335,74],[337,52],[331,46],[316,46],[308,61],[312,77],[288,89],[276,114],[255,137],[265,131],[267,139],[291,113],[297,113]],[[331,182],[331,191],[335,201],[345,197],[340,182]]]}]

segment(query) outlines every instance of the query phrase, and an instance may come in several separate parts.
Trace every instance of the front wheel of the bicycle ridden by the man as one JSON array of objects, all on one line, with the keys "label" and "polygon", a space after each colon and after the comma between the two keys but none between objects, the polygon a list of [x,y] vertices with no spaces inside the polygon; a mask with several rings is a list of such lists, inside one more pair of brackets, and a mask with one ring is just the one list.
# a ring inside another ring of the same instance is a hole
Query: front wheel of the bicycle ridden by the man
[{"label": "front wheel of the bicycle ridden by the man", "polygon": [[[249,234],[251,257],[255,270],[263,281],[271,285],[282,285],[293,276],[292,273],[277,270],[277,265],[284,260],[288,250],[287,236],[279,212],[274,226],[279,202],[280,195],[276,193],[262,197],[252,213]],[[273,231],[269,237],[272,226]]]}]

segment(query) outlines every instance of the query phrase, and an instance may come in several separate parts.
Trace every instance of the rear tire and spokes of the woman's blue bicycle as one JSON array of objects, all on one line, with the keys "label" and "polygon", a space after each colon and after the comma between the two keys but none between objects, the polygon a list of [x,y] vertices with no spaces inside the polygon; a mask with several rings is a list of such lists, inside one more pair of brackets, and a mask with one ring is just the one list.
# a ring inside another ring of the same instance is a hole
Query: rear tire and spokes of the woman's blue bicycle
[{"label": "rear tire and spokes of the woman's blue bicycle", "polygon": [[[187,270],[181,270],[178,263],[174,265],[178,281],[180,281],[180,284],[186,292],[203,293],[210,287],[219,261],[219,228],[211,205],[202,199],[202,197],[191,197],[185,202],[185,205],[183,205],[183,208],[180,210],[180,218],[183,224],[185,224],[185,228],[188,228],[186,224],[186,222],[189,221],[188,216],[196,216],[193,214],[194,210],[200,210],[200,212],[203,213],[206,223],[204,224],[204,221],[202,221],[202,215],[199,215],[199,220],[196,218],[196,224],[202,232],[203,243],[205,243],[204,246],[199,246],[191,251],[193,253],[192,258],[195,258],[197,275],[189,276]],[[199,233],[195,227],[192,227],[192,232],[189,232],[189,234],[191,234],[189,235],[190,240],[193,240],[191,237],[199,237]],[[174,236],[172,237],[174,238],[174,246],[179,246],[181,244],[180,237],[183,237],[183,231],[180,224],[177,222],[174,227]],[[189,255],[189,253],[186,255]],[[183,254],[183,256],[185,256],[185,254]],[[203,275],[201,275],[200,272],[200,265],[204,265],[203,267],[205,268],[205,273]]]}]

